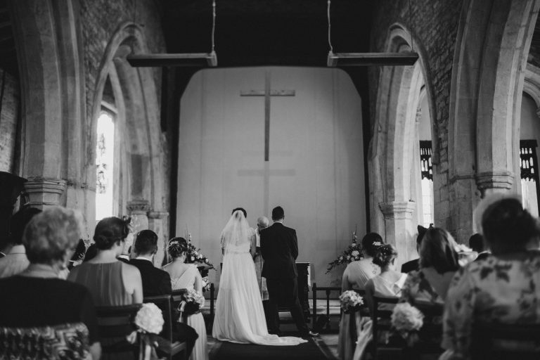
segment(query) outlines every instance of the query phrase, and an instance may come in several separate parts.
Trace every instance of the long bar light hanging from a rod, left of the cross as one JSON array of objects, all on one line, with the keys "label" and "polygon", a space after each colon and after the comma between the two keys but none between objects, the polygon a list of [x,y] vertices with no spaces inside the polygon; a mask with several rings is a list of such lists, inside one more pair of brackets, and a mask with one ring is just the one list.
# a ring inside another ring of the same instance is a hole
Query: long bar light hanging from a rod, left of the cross
[{"label": "long bar light hanging from a rod, left of the cross", "polygon": [[127,56],[129,65],[133,67],[149,66],[217,66],[217,55],[214,50],[214,34],[216,30],[216,0],[212,1],[212,51],[210,53],[150,53],[131,54]]}]

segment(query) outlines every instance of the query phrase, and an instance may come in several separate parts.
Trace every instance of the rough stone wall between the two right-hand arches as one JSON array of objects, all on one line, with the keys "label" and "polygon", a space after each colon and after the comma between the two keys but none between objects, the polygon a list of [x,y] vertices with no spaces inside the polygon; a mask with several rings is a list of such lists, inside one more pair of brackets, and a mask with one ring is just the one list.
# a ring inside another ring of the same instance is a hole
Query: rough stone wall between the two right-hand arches
[{"label": "rough stone wall between the two right-hand arches", "polygon": [[[409,7],[410,4],[410,7]],[[413,32],[414,39],[425,49],[435,94],[439,164],[435,166],[435,223],[450,231],[452,221],[449,203],[449,103],[452,63],[458,22],[463,0],[380,0],[373,11],[372,51],[385,51],[390,25],[401,23]],[[410,9],[410,11],[409,11]],[[368,70],[370,82],[371,124],[375,118],[375,103],[381,68]]]}]

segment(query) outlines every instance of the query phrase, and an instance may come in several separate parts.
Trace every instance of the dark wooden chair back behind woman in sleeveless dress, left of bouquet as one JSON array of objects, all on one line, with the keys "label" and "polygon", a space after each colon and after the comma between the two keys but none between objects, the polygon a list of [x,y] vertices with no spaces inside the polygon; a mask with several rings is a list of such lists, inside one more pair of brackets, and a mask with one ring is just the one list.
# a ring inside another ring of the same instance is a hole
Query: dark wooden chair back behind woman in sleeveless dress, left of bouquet
[{"label": "dark wooden chair back behind woman in sleeveless dress, left of bouquet", "polygon": [[139,346],[130,345],[126,336],[136,327],[134,319],[141,304],[121,307],[96,307],[101,348],[104,354],[133,352],[134,359],[139,356]]}]

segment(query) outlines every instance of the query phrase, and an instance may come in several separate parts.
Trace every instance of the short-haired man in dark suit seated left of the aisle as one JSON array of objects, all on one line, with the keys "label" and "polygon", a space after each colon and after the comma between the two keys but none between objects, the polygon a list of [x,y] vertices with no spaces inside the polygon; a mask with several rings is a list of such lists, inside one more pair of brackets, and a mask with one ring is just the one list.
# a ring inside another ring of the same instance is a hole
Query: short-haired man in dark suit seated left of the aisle
[{"label": "short-haired man in dark suit seated left of the aisle", "polygon": [[172,294],[171,277],[167,271],[154,266],[152,259],[158,252],[158,235],[151,230],[137,233],[134,243],[137,257],[131,259],[129,264],[141,271],[143,280],[143,296]]}]

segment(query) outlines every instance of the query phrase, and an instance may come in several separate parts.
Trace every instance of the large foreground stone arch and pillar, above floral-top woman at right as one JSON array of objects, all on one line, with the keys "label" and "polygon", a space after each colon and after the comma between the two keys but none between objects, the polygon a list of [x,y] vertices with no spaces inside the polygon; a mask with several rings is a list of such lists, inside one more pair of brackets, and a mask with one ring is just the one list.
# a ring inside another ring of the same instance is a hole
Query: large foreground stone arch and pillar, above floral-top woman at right
[{"label": "large foreground stone arch and pillar, above floral-top woman at right", "polygon": [[[473,233],[481,196],[518,192],[519,119],[525,65],[540,1],[467,0],[452,70],[449,113],[449,229]],[[487,8],[489,7],[489,8]]]}]

